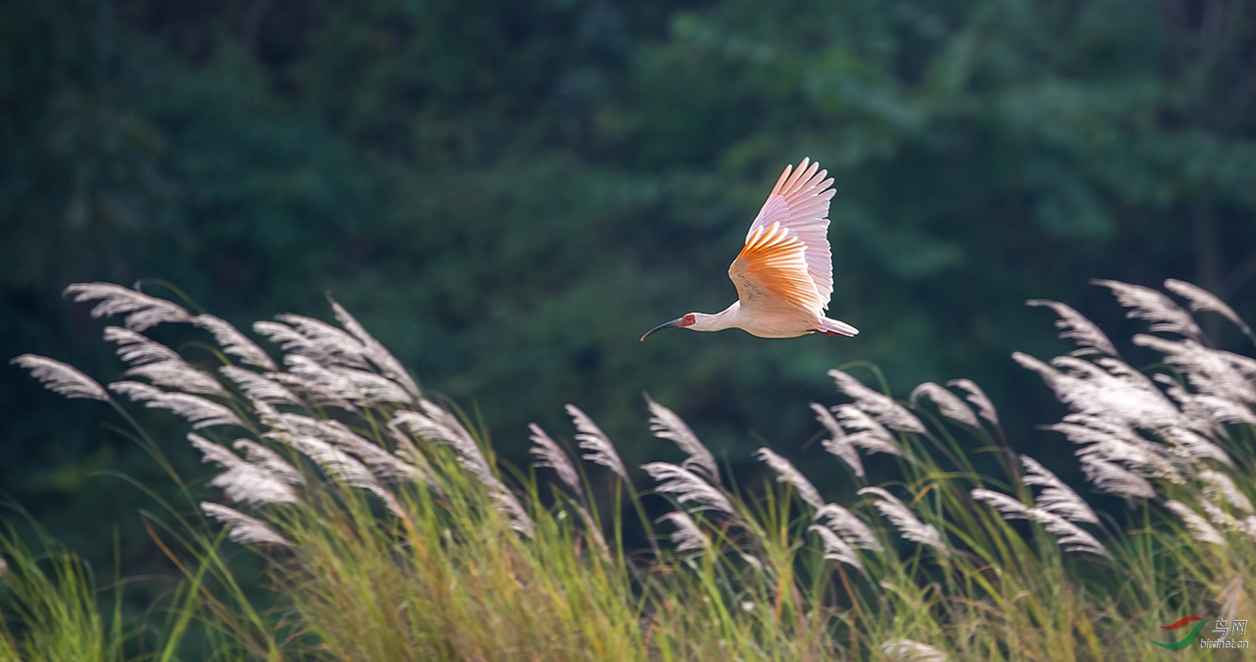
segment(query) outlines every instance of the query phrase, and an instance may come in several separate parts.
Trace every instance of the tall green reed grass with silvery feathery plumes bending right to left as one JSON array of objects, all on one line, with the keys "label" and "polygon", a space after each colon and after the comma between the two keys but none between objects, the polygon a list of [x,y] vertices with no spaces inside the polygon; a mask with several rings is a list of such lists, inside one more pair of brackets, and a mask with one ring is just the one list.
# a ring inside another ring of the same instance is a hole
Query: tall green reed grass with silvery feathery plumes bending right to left
[{"label": "tall green reed grass with silvery feathery plumes bending right to left", "polygon": [[[679,464],[632,470],[568,405],[575,446],[534,425],[534,466],[504,470],[484,430],[335,302],[338,325],[255,323],[271,355],[217,317],[74,285],[93,316],[121,318],[104,337],[126,379],[106,387],[48,357],[14,362],[68,397],[182,416],[217,468],[198,512],[171,505],[154,523],[183,599],[144,659],[178,658],[193,626],[224,659],[1174,659],[1188,653],[1156,646],[1157,626],[1256,616],[1256,360],[1212,346],[1192,312],[1256,337],[1189,283],[1166,282],[1186,307],[1096,283],[1148,325],[1133,344],[1156,364],[1130,365],[1054,301],[1029,303],[1054,311],[1075,349],[1015,360],[1068,406],[1048,428],[1075,445],[1083,491],[1117,498],[1107,510],[1015,453],[970,380],[901,401],[830,371],[839,401],[811,404],[834,455],[823,470],[847,471],[859,497],[838,504],[782,449],[756,453],[775,483],[731,484],[652,400],[649,428],[686,454]],[[214,364],[144,335],[161,323],[200,328]],[[870,484],[867,461],[897,478]],[[659,515],[649,493],[672,508]],[[250,603],[224,537],[265,559],[281,607]],[[80,564],[0,542],[18,568],[0,659],[121,659],[127,634],[99,618]]]}]

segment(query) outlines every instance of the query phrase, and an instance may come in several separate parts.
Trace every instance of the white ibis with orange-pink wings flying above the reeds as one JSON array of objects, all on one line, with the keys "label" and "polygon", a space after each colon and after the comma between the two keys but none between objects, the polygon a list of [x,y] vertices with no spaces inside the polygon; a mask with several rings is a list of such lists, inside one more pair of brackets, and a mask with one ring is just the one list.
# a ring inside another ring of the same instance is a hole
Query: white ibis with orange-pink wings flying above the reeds
[{"label": "white ibis with orange-pink wings flying above the reeds", "polygon": [[741,328],[759,337],[806,334],[853,336],[858,328],[824,316],[833,296],[829,199],[836,191],[828,171],[804,158],[786,166],[750,226],[746,244],[728,267],[737,301],[715,315],[691,312],[661,323],[693,331]]}]

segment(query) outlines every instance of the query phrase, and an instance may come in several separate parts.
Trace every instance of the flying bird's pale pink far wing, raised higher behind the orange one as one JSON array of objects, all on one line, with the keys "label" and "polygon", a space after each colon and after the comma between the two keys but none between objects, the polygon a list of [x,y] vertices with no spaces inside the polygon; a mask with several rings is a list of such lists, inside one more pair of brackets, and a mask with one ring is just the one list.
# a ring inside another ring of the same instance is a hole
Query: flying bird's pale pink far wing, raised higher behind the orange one
[{"label": "flying bird's pale pink far wing, raised higher behind the orange one", "polygon": [[[833,179],[821,171],[819,163],[804,158],[795,169],[786,166],[776,179],[767,202],[746,233],[746,247],[755,231],[780,223],[804,244],[806,275],[820,297],[819,311],[829,307],[833,296],[833,253],[829,251],[829,201],[833,198]],[[745,253],[745,250],[742,250]],[[739,256],[740,260],[740,256]]]}]

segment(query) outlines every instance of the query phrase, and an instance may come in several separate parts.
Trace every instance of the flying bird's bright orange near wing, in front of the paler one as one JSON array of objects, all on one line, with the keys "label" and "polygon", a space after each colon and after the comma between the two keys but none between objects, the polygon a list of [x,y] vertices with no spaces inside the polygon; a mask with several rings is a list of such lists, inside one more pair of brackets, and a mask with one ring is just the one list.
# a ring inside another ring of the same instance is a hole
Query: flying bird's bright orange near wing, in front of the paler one
[{"label": "flying bird's bright orange near wing, in front of the paler one", "polygon": [[779,221],[750,233],[746,246],[728,267],[742,308],[774,313],[824,315],[820,297],[808,273],[806,244]]}]

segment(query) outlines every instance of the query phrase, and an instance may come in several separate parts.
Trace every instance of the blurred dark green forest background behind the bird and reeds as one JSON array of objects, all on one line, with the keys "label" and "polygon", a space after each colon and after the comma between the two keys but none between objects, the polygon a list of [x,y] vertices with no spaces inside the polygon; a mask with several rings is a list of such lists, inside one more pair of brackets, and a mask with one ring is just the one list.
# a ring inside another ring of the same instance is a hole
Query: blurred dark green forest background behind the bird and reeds
[{"label": "blurred dark green forest background behind the bird and reeds", "polygon": [[[1035,424],[1059,405],[1009,355],[1061,345],[1026,298],[1122,339],[1088,280],[1174,277],[1256,320],[1251,3],[0,5],[4,359],[117,377],[75,281],[242,328],[329,318],[330,292],[516,464],[528,423],[570,438],[565,402],[627,461],[667,458],[643,391],[734,465],[764,444],[829,461],[808,402],[850,361],[899,397],[972,377],[1049,460],[1070,449]],[[863,334],[638,342],[732,301],[727,265],[804,155],[839,189],[830,312]],[[4,498],[94,558],[118,529],[147,567],[152,500],[109,474],[168,480],[121,421],[13,366],[0,420]],[[181,424],[146,420],[201,475]]]}]

